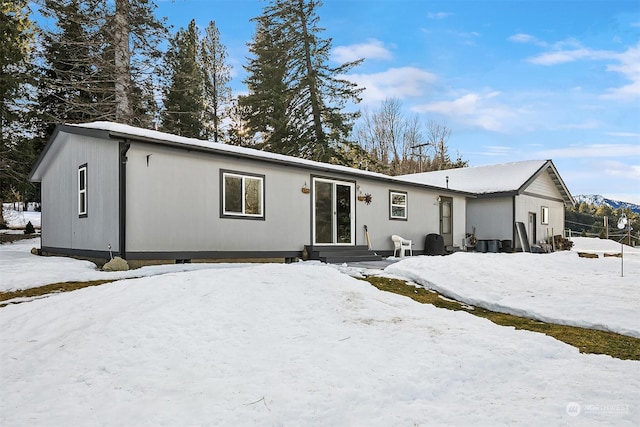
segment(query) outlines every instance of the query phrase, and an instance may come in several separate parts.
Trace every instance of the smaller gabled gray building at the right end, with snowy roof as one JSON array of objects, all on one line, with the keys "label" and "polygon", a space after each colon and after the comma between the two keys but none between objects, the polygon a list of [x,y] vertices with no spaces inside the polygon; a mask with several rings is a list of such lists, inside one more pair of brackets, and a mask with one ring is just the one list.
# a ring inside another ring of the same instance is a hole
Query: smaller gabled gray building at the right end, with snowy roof
[{"label": "smaller gabled gray building at the right end, with snowy roof", "polygon": [[405,175],[415,183],[444,186],[475,194],[466,203],[467,232],[478,240],[499,240],[521,249],[514,224],[522,223],[531,244],[564,230],[565,207],[573,197],[551,160],[529,160],[489,166]]}]

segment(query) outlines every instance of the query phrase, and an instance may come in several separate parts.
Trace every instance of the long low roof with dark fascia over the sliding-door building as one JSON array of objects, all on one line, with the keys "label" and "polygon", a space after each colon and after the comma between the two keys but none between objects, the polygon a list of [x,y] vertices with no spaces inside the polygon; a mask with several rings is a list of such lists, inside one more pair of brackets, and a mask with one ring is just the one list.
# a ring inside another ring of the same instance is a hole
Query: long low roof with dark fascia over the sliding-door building
[{"label": "long low roof with dark fascia over the sliding-door building", "polygon": [[[325,173],[339,173],[342,175],[359,176],[362,178],[370,178],[378,181],[386,181],[397,184],[413,185],[427,189],[434,189],[436,191],[446,191],[452,194],[460,194],[467,197],[473,197],[472,193],[468,193],[462,190],[447,189],[444,185],[430,185],[426,183],[416,182],[404,179],[402,177],[394,177],[385,175],[378,172],[370,172],[351,168],[348,166],[332,165],[328,163],[316,162],[313,160],[301,159],[298,157],[285,156],[283,154],[270,153],[267,151],[256,150],[253,148],[240,147],[237,145],[221,144],[212,141],[204,141],[195,138],[187,138],[184,136],[173,135],[169,133],[159,132],[155,130],[142,129],[134,126],[123,125],[113,122],[91,122],[84,124],[64,124],[58,125],[51,136],[49,143],[43,150],[38,162],[33,167],[29,179],[32,181],[40,181],[44,170],[46,170],[48,163],[51,161],[47,154],[49,152],[55,152],[56,148],[53,147],[56,141],[56,137],[59,133],[72,133],[83,134],[88,136],[94,136],[104,139],[118,139],[118,140],[131,140],[141,141],[148,143],[155,143],[161,145],[169,145],[176,148],[186,150],[199,150],[208,153],[216,153],[221,155],[229,155],[234,157],[241,157],[253,160],[259,160],[269,163],[277,163],[286,166],[298,166],[305,169],[311,169],[316,171],[322,171]],[[52,148],[53,147],[53,148]]]}]

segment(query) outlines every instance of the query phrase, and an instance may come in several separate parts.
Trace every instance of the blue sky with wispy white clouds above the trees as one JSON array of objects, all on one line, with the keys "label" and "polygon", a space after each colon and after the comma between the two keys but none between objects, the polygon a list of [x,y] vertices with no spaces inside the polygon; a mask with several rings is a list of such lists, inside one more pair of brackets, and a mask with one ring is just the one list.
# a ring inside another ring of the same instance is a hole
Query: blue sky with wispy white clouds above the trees
[{"label": "blue sky with wispy white clouds above the trees", "polygon": [[[158,2],[186,27],[216,21],[242,84],[260,0]],[[553,159],[572,194],[640,203],[640,2],[324,0],[318,10],[361,109],[385,98],[452,129],[471,166]]]}]

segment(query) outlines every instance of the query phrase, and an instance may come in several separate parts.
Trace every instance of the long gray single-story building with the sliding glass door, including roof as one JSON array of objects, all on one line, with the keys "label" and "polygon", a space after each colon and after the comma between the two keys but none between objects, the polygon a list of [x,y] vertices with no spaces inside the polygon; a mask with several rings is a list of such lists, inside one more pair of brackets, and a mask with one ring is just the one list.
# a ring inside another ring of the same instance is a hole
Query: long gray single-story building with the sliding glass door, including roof
[{"label": "long gray single-story building with the sliding glass door, including roof", "polygon": [[30,179],[42,183],[44,253],[138,265],[289,260],[305,249],[365,259],[391,255],[394,234],[420,254],[427,234],[463,240],[475,197],[111,122],[59,125]]}]

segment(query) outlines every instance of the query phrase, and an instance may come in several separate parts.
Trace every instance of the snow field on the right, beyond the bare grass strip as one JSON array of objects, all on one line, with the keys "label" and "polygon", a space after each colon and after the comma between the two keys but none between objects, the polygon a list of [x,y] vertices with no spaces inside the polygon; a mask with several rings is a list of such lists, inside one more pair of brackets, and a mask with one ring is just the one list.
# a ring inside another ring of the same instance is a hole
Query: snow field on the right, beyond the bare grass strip
[{"label": "snow field on the right, beyond the bare grass strip", "polygon": [[[619,253],[620,244],[572,240],[572,251],[552,254],[411,257],[384,273],[489,310],[640,337],[640,250],[627,246],[623,259],[604,257]],[[580,258],[577,251],[600,256]]]}]

